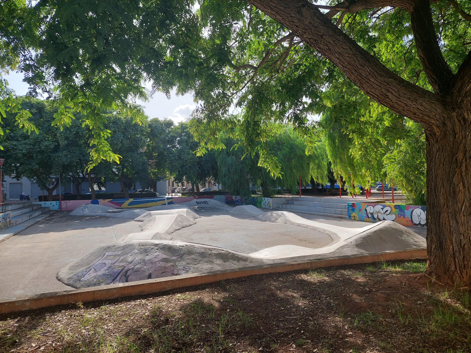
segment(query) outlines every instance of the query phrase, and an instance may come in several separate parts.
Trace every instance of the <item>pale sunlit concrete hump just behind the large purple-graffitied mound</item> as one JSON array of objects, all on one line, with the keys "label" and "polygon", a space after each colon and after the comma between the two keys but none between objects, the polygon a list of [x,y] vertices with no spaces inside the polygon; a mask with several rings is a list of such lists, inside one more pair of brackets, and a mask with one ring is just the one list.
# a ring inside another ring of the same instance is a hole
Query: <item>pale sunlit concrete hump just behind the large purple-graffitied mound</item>
[{"label": "pale sunlit concrete hump just behind the large purple-graffitied mound", "polygon": [[167,234],[165,239],[169,239],[168,235],[171,233],[195,223],[194,219],[181,214],[151,216],[147,217],[140,225],[141,232],[130,233],[122,241],[155,239],[154,236],[161,233]]}]

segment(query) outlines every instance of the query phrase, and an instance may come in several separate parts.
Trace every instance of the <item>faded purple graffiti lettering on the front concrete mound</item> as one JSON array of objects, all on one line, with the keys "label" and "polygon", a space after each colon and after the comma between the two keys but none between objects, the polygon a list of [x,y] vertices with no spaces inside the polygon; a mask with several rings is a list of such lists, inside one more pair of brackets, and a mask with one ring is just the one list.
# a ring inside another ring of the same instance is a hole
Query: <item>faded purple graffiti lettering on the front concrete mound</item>
[{"label": "faded purple graffiti lettering on the front concrete mound", "polygon": [[89,282],[90,285],[100,283],[117,284],[133,281],[150,280],[187,273],[190,268],[174,268],[162,260],[175,260],[183,256],[167,256],[159,252],[142,257],[139,250],[134,249],[129,253],[124,250],[105,252],[103,256],[88,268],[75,273],[69,281],[75,285],[80,282]]}]

